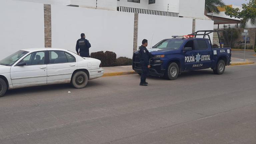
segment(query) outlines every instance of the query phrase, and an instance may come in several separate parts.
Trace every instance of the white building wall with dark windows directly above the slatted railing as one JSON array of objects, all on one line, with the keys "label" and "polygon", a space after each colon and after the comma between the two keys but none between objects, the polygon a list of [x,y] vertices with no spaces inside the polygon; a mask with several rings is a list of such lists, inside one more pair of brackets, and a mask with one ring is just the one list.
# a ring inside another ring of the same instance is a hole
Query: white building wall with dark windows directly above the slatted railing
[{"label": "white building wall with dark windows directly above the slatted railing", "polygon": [[149,9],[157,11],[167,11],[169,4],[169,12],[179,12],[179,0],[156,0],[155,4],[148,4],[148,0],[140,0],[140,3],[128,2],[127,0],[117,1],[117,6]]}]

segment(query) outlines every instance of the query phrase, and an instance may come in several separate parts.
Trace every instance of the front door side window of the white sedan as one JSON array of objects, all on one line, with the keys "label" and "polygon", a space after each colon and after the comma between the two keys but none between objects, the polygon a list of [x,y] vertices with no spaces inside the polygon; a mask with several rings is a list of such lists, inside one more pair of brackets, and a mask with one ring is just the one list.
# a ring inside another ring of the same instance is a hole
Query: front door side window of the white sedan
[{"label": "front door side window of the white sedan", "polygon": [[41,65],[45,64],[45,52],[33,52],[23,59],[26,65]]}]

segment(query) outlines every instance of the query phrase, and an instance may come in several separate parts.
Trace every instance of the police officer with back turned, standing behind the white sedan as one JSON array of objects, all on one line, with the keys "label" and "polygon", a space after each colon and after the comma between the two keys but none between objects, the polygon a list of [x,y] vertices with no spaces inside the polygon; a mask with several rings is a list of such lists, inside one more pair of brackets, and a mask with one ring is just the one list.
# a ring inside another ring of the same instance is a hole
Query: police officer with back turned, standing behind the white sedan
[{"label": "police officer with back turned, standing behind the white sedan", "polygon": [[76,52],[82,57],[90,57],[89,48],[91,44],[87,39],[85,39],[85,34],[81,33],[81,39],[78,39],[76,42]]}]

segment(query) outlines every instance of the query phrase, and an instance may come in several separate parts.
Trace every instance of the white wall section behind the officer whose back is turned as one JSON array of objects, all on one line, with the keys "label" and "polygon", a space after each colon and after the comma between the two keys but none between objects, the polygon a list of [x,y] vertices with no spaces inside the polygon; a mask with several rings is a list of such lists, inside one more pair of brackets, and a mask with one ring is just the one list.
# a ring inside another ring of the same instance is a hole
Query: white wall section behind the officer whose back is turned
[{"label": "white wall section behind the officer whose back is turned", "polygon": [[113,51],[117,57],[133,53],[134,14],[52,5],[52,47],[75,52],[81,33],[91,52]]}]

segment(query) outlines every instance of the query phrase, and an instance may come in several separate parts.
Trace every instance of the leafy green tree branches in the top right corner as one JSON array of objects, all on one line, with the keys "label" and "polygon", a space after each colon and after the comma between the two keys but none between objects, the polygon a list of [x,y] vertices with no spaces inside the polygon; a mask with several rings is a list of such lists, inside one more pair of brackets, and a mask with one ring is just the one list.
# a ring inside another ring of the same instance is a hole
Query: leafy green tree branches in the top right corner
[{"label": "leafy green tree branches in the top right corner", "polygon": [[245,27],[246,23],[251,20],[251,24],[256,22],[256,0],[250,0],[247,4],[242,4],[243,10],[239,8],[226,7],[225,14],[230,17],[241,19],[241,27]]}]

